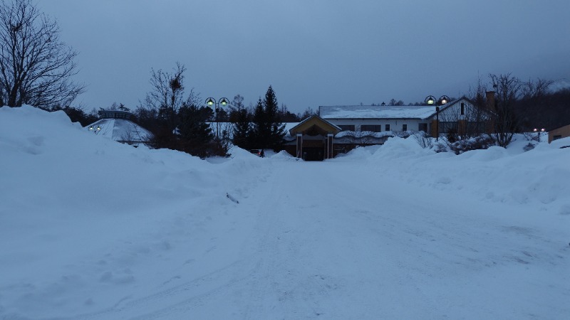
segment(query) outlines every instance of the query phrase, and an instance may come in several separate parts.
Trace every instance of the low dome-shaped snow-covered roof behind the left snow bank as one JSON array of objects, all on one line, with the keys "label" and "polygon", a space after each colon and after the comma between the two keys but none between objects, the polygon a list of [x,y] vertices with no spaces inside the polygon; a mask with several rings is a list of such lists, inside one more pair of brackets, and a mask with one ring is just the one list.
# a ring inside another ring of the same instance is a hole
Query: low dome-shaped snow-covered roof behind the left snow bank
[{"label": "low dome-shaped snow-covered roof behind the left snow bank", "polygon": [[100,119],[89,124],[86,129],[118,142],[141,143],[152,138],[150,131],[128,119]]}]

